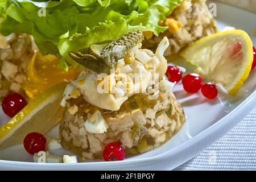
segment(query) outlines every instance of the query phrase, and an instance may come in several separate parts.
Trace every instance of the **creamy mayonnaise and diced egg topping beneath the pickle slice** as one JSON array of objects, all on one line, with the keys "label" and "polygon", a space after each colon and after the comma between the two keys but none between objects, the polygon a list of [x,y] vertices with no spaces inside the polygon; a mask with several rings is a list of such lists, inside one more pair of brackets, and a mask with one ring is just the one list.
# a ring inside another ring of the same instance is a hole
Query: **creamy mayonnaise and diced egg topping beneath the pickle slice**
[{"label": "creamy mayonnaise and diced egg topping beneath the pickle slice", "polygon": [[[64,92],[63,101],[61,101],[61,106],[65,106],[66,100],[70,99],[71,94],[75,89],[79,89],[81,96],[92,105],[100,107],[101,109],[107,110],[119,110],[123,102],[125,102],[129,97],[133,96],[135,93],[145,93],[147,86],[150,84],[156,84],[158,78],[162,78],[167,70],[167,60],[164,58],[163,53],[169,46],[169,40],[164,38],[160,42],[155,55],[148,54],[147,50],[139,49],[141,44],[135,46],[131,53],[134,54],[135,60],[126,64],[123,59],[118,61],[118,71],[112,73],[111,75],[100,74],[90,71],[89,69],[84,69],[77,78],[77,80],[72,81]],[[132,74],[130,74],[132,73]],[[155,74],[156,73],[156,74]],[[139,83],[135,81],[130,75],[139,76]],[[158,77],[152,77],[151,75],[159,75]],[[107,86],[104,85],[104,89],[107,88],[109,92],[102,92],[102,79],[112,80]],[[118,77],[122,77],[120,80],[123,87],[118,87]],[[150,81],[150,78],[154,80]],[[141,84],[142,83],[142,84]],[[141,86],[141,87],[140,87]],[[168,88],[168,87],[167,87]],[[123,93],[121,90],[122,89]],[[99,92],[99,90],[101,92]],[[115,93],[117,92],[117,93]],[[104,122],[103,122],[104,123]],[[100,126],[100,123],[97,123]],[[88,129],[92,129],[94,132],[100,132],[95,129],[96,123],[86,123]],[[104,125],[102,125],[103,127]],[[102,131],[101,131],[102,132]]]}]

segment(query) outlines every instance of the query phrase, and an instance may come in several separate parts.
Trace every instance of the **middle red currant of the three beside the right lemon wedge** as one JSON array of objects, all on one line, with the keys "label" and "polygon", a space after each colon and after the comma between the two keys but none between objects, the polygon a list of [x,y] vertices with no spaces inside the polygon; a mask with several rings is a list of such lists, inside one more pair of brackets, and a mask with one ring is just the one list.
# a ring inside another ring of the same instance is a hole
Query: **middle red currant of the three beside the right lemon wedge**
[{"label": "middle red currant of the three beside the right lemon wedge", "polygon": [[196,93],[203,85],[203,79],[196,73],[191,73],[183,77],[183,88],[188,93]]}]

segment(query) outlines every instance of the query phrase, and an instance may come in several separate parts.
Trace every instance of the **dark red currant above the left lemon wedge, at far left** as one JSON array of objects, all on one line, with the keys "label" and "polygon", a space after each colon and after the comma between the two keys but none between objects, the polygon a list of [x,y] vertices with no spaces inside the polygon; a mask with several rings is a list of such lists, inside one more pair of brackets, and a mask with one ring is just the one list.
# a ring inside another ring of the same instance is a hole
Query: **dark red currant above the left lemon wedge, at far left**
[{"label": "dark red currant above the left lemon wedge, at far left", "polygon": [[14,117],[20,110],[27,105],[26,100],[18,93],[10,93],[3,99],[2,109],[5,114]]}]

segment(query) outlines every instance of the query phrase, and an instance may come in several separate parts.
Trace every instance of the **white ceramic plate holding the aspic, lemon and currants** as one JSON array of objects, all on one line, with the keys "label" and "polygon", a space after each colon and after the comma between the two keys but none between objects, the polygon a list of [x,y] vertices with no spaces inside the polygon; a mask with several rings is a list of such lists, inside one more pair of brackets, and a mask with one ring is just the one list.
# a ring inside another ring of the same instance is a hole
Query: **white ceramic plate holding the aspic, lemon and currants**
[{"label": "white ceramic plate holding the aspic, lemon and currants", "polygon": [[[253,31],[256,14],[217,3],[217,22],[219,30],[233,26],[245,30],[256,45]],[[187,94],[181,84],[175,86],[174,93],[188,115],[183,129],[164,146],[156,150],[128,158],[121,162],[88,162],[77,164],[39,164],[32,163],[31,155],[23,146],[14,146],[0,151],[0,169],[26,170],[170,170],[187,162],[213,142],[221,138],[237,125],[256,106],[256,69],[236,98],[220,94],[220,98],[210,101],[198,94]],[[0,111],[0,125],[7,121]],[[48,136],[57,137],[58,127]],[[63,155],[68,151],[57,150],[52,154]]]}]

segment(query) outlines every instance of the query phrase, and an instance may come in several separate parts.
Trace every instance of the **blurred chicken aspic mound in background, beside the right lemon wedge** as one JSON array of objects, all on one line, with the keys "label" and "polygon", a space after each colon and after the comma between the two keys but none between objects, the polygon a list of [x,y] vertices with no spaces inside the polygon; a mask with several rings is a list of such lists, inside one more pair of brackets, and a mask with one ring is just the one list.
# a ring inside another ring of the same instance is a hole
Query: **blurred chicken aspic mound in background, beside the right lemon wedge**
[{"label": "blurred chicken aspic mound in background, beside the right lemon wedge", "polygon": [[168,30],[159,36],[152,36],[142,43],[143,48],[155,51],[164,36],[167,36],[170,46],[164,53],[170,56],[182,51],[189,44],[217,32],[216,22],[205,0],[187,0],[181,3],[160,26],[168,26]]}]

